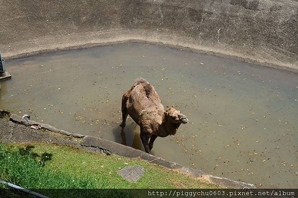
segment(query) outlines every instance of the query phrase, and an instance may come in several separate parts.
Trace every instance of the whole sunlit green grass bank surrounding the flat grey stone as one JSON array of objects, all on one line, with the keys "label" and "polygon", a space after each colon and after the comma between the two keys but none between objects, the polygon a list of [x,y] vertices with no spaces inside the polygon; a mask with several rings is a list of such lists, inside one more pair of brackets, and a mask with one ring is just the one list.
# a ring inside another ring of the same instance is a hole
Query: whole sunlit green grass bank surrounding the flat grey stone
[{"label": "whole sunlit green grass bank surrounding the flat grey stone", "polygon": [[[138,182],[117,174],[135,164],[145,168]],[[0,180],[30,189],[217,188],[141,159],[46,143],[0,145],[0,170]]]}]

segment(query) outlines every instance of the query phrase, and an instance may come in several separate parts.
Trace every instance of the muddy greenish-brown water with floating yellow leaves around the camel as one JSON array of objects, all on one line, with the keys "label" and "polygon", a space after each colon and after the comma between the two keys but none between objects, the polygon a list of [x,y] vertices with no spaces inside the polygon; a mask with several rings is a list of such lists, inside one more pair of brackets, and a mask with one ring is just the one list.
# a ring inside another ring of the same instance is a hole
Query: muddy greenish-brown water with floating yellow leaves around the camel
[{"label": "muddy greenish-brown water with floating yellow leaves around the camel", "polygon": [[152,154],[255,184],[298,188],[298,75],[211,55],[123,44],[6,61],[0,109],[142,149],[121,97],[138,77],[190,122]]}]

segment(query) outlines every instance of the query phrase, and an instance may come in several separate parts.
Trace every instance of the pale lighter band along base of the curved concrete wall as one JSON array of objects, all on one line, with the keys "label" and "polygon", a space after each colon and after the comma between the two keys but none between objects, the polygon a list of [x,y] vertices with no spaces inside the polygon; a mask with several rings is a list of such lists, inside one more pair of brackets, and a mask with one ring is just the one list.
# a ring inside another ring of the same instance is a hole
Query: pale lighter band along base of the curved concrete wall
[{"label": "pale lighter band along base of the curved concrete wall", "polygon": [[193,39],[184,38],[169,34],[156,32],[147,32],[136,30],[118,30],[118,33],[111,31],[103,32],[88,32],[88,33],[74,33],[60,37],[49,37],[37,39],[32,43],[31,41],[21,41],[13,43],[13,48],[3,46],[3,57],[5,60],[21,59],[35,56],[42,53],[52,53],[67,50],[78,50],[93,47],[102,47],[127,43],[142,43],[159,45],[162,47],[170,47],[179,50],[188,50],[194,53],[202,53],[214,55],[222,58],[241,61],[244,63],[255,64],[258,66],[272,67],[280,70],[286,70],[298,73],[298,65],[293,63],[285,63],[276,61],[272,57],[262,57],[259,55],[251,56],[233,50],[223,51],[221,48],[206,47],[200,45]]}]

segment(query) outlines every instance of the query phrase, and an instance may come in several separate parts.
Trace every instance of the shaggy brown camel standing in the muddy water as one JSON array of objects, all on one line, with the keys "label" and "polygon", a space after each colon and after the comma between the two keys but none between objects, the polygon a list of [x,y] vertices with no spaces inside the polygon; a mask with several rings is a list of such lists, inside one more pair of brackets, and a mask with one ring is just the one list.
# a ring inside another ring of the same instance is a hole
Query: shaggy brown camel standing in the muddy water
[{"label": "shaggy brown camel standing in the muddy water", "polygon": [[186,116],[177,111],[174,106],[164,111],[154,87],[143,78],[137,79],[123,94],[121,110],[122,131],[124,131],[127,116],[130,115],[140,126],[141,140],[147,153],[153,148],[157,137],[174,135],[181,124],[188,122]]}]

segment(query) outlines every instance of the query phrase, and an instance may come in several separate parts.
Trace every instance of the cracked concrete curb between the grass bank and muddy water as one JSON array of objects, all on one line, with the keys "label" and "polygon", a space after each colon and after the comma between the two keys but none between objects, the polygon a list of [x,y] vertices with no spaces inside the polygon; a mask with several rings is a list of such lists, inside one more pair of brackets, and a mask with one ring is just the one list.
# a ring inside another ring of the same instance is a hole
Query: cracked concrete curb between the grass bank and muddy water
[{"label": "cracked concrete curb between the grass bank and muddy water", "polygon": [[202,170],[193,169],[190,167],[186,167],[183,165],[180,165],[175,162],[164,160],[160,157],[156,157],[153,155],[150,155],[149,153],[146,153],[142,150],[138,150],[123,144],[119,144],[110,140],[89,136],[89,135],[82,135],[72,132],[66,132],[63,130],[56,129],[53,126],[38,123],[32,120],[28,120],[25,118],[22,118],[20,116],[17,116],[15,114],[10,114],[9,112],[0,110],[1,114],[6,114],[9,116],[9,120],[16,124],[22,124],[25,126],[35,126],[36,130],[38,129],[46,129],[52,132],[57,132],[63,135],[73,136],[82,138],[81,146],[83,147],[94,147],[94,148],[100,148],[102,150],[105,150],[109,153],[118,154],[125,157],[130,158],[140,158],[143,160],[148,161],[149,163],[161,165],[165,168],[178,171],[182,174],[189,175],[193,178],[199,179],[201,181],[210,182],[212,184],[218,185],[222,188],[255,188],[253,184],[244,183],[244,182],[237,182],[233,180],[229,180],[227,178],[217,177],[214,175],[211,175],[209,173],[206,173]]}]

